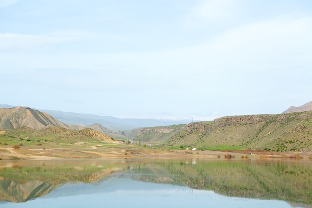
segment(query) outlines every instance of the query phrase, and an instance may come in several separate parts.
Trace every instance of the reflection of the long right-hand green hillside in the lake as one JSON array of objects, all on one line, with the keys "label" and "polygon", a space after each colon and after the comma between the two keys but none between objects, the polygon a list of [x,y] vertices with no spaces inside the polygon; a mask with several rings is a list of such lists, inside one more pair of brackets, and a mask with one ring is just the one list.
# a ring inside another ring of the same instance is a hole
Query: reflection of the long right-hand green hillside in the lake
[{"label": "reflection of the long right-hand green hillside in the lake", "polygon": [[212,190],[229,197],[312,205],[311,163],[195,161],[195,165],[186,165],[171,162],[141,165],[127,173],[133,180]]}]

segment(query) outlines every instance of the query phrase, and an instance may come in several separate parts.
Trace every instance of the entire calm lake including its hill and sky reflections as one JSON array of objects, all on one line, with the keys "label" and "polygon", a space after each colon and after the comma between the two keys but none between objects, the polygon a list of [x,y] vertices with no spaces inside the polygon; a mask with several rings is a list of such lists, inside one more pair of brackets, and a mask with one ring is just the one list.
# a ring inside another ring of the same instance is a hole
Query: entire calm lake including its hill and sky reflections
[{"label": "entire calm lake including its hill and sky reflections", "polygon": [[312,208],[312,161],[0,161],[0,208]]}]

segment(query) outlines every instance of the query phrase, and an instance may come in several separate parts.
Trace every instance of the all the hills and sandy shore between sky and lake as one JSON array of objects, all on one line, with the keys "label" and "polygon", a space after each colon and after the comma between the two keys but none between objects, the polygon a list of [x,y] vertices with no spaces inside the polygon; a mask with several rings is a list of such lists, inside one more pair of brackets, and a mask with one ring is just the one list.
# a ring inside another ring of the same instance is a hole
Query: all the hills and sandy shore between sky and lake
[{"label": "all the hills and sandy shore between sky and lake", "polygon": [[0,108],[0,159],[310,159],[311,104],[300,107],[304,111],[291,107],[294,112],[125,131],[69,125],[28,107]]}]

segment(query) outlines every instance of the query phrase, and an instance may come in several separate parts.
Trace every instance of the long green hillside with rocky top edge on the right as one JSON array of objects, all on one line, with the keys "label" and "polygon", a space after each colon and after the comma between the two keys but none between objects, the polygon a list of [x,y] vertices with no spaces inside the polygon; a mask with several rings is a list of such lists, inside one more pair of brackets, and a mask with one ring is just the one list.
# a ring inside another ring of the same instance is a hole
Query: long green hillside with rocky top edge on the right
[{"label": "long green hillside with rocky top edge on the right", "polygon": [[312,151],[312,111],[228,116],[212,122],[190,123],[163,146]]}]

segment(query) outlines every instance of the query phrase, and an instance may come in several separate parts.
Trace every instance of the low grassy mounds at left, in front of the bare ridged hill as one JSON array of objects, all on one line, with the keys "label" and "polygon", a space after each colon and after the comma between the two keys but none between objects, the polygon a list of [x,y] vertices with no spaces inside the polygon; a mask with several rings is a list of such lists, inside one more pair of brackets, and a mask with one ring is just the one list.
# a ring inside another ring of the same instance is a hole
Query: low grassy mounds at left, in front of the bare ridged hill
[{"label": "low grassy mounds at left, in front of the bare ridged hill", "polygon": [[[22,142],[21,142],[22,141]],[[14,130],[1,131],[0,145],[10,145],[19,151],[25,149],[48,148],[71,148],[79,149],[82,147],[116,147],[114,140],[109,136],[92,129],[69,130],[62,127],[50,127],[42,130],[33,130],[28,127],[20,127]],[[99,146],[100,145],[100,146]],[[122,147],[122,145],[119,145]],[[29,152],[29,154],[35,152]],[[48,153],[48,152],[47,152]],[[77,157],[82,155],[77,152]],[[51,155],[51,154],[50,154]],[[84,154],[86,157],[86,153]],[[58,157],[51,155],[51,157]],[[60,156],[63,157],[63,156]],[[90,157],[94,155],[90,154]]]}]

